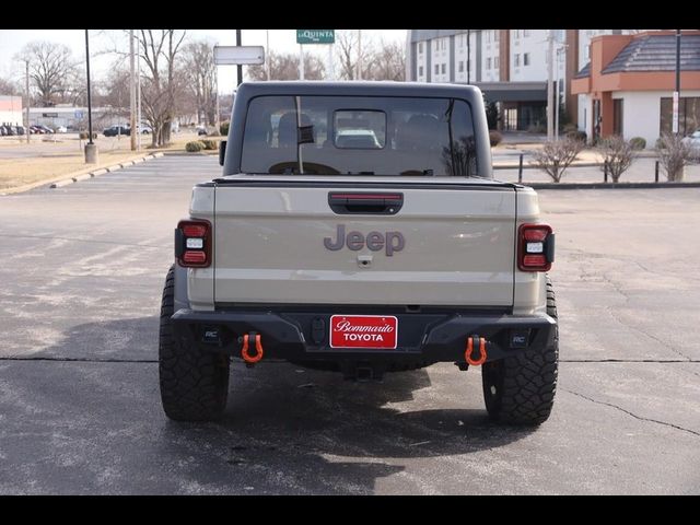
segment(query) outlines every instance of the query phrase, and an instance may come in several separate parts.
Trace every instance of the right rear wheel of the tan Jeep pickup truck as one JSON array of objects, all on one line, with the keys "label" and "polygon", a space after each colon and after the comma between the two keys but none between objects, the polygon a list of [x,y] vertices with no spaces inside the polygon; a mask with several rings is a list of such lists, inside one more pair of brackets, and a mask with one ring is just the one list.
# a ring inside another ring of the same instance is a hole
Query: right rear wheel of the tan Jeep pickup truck
[{"label": "right rear wheel of the tan Jeep pickup truck", "polygon": [[[547,314],[557,318],[555,290],[547,276]],[[485,363],[481,370],[486,409],[502,423],[544,423],[555,402],[559,364],[559,327],[555,345],[544,352],[527,351]]]}]

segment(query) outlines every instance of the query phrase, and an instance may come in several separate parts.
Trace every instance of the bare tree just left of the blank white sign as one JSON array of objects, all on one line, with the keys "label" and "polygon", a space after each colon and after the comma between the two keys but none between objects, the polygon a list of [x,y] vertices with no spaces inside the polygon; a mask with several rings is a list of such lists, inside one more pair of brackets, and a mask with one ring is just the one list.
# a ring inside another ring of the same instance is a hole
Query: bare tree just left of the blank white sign
[{"label": "bare tree just left of the blank white sign", "polygon": [[183,46],[183,70],[187,79],[186,92],[194,98],[197,124],[213,125],[217,120],[213,45],[207,40],[196,40]]}]

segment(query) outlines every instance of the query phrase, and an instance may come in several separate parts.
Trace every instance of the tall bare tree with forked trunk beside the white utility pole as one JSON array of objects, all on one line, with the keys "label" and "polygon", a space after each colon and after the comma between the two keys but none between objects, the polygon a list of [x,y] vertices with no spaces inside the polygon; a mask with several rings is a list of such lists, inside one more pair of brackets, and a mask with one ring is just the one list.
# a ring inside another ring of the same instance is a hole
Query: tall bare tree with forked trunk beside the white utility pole
[{"label": "tall bare tree with forked trunk beside the white utility pole", "polygon": [[[176,75],[176,58],[185,39],[185,30],[139,30],[141,57],[145,65],[141,101],[145,118],[153,129],[152,147],[171,139],[176,113],[176,94],[184,80]],[[179,84],[179,85],[178,85]]]}]

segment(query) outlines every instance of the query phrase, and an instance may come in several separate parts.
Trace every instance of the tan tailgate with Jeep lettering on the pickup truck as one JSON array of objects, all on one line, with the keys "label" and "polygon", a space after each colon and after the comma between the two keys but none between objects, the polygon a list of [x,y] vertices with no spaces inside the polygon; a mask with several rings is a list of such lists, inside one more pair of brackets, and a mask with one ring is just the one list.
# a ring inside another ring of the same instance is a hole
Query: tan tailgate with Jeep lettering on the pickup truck
[{"label": "tan tailgate with Jeep lettering on the pickup truck", "polygon": [[[232,177],[235,178],[235,177]],[[325,177],[323,177],[325,178]],[[243,177],[217,184],[214,302],[511,306],[513,187]],[[454,179],[453,179],[454,180]],[[329,196],[400,195],[393,214]]]}]

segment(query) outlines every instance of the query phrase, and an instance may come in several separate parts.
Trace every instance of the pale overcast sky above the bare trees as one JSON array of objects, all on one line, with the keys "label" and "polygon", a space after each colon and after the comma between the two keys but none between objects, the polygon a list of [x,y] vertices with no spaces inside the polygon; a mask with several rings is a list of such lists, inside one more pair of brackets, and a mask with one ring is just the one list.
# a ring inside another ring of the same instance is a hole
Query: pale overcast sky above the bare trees
[{"label": "pale overcast sky above the bare trees", "polygon": [[[105,51],[115,46],[128,50],[128,42],[121,38],[120,31],[91,30],[90,56],[93,79],[106,75],[115,55]],[[295,30],[269,30],[270,49],[278,52],[299,52]],[[212,45],[233,46],[236,42],[235,30],[188,30],[191,38],[207,38]],[[362,42],[406,42],[406,30],[362,30]],[[73,50],[75,58],[84,60],[84,30],[0,30],[0,77],[24,79],[23,65],[14,60],[15,55],[32,40],[48,40],[66,44]],[[243,30],[244,46],[265,46],[266,30]],[[304,52],[315,52],[324,60],[328,56],[327,46],[304,46]],[[219,67],[219,91],[229,93],[235,86],[235,66]],[[244,67],[245,70],[245,67]],[[24,85],[24,84],[22,84]]]}]

